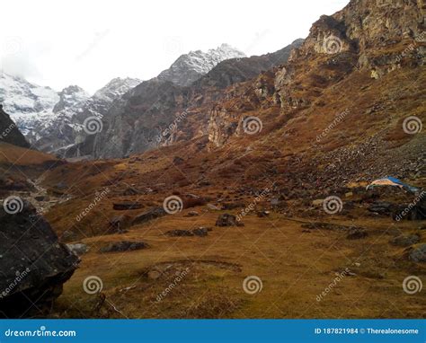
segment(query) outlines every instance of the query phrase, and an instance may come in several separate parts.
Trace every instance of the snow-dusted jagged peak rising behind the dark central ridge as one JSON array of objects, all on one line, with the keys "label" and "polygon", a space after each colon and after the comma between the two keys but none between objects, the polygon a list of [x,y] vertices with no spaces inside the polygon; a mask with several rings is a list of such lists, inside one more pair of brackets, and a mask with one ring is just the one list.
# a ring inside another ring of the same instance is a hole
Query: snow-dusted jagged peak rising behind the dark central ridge
[{"label": "snow-dusted jagged peak rising behind the dark central ridge", "polygon": [[171,81],[173,84],[187,86],[198,80],[202,75],[209,73],[218,63],[239,57],[245,57],[244,52],[228,44],[222,44],[218,48],[210,48],[207,52],[190,51],[176,59],[169,69],[158,75],[158,78]]}]

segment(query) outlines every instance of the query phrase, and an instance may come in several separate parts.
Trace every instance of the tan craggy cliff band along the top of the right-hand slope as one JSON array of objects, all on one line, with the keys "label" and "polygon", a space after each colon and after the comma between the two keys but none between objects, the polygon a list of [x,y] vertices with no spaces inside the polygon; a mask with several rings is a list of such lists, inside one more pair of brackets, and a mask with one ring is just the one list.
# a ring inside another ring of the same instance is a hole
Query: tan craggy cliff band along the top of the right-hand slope
[{"label": "tan craggy cliff band along the top of the right-hand slope", "polygon": [[246,92],[228,92],[228,101],[217,102],[210,111],[210,142],[221,146],[240,136],[244,119],[262,108],[279,106],[276,116],[290,116],[324,107],[324,92],[357,73],[379,79],[397,69],[423,66],[424,9],[415,0],[353,0],[342,11],[323,15],[288,63],[272,70],[274,76],[244,84]]}]

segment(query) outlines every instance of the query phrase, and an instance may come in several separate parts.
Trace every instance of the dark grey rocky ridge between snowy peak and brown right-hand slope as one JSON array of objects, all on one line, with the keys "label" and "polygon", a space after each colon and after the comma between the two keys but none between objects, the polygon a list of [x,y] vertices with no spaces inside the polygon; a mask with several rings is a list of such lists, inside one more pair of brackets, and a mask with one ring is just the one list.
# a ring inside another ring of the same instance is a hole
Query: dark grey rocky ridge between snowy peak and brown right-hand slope
[{"label": "dark grey rocky ridge between snowy peak and brown right-hand slope", "polygon": [[189,87],[162,77],[146,81],[115,102],[103,120],[102,132],[85,145],[94,145],[96,158],[117,158],[207,135],[209,110],[214,101],[228,96],[227,86],[287,61],[302,41],[272,54],[222,61]]}]

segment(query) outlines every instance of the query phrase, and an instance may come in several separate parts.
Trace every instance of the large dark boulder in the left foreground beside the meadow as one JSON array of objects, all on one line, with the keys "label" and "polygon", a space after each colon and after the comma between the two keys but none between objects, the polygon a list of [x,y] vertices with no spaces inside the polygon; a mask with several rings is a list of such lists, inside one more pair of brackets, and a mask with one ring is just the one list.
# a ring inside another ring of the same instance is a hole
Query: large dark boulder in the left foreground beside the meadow
[{"label": "large dark boulder in the left foreground beside the meadow", "polygon": [[42,315],[79,262],[34,207],[16,204],[0,206],[0,318]]}]

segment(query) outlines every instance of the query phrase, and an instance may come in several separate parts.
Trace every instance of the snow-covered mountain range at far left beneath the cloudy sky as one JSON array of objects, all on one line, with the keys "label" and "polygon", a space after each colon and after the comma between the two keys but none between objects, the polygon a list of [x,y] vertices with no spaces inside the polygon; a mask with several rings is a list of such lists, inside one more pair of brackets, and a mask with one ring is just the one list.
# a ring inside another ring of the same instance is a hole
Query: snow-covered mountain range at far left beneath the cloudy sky
[{"label": "snow-covered mountain range at far left beneath the cloudy sky", "polygon": [[102,117],[113,101],[140,83],[117,77],[91,97],[77,85],[55,92],[19,76],[0,74],[0,103],[32,145],[52,152],[74,145],[75,128],[81,128],[85,118]]}]

